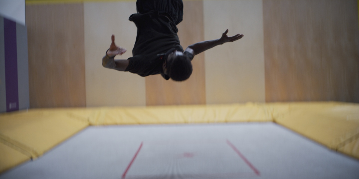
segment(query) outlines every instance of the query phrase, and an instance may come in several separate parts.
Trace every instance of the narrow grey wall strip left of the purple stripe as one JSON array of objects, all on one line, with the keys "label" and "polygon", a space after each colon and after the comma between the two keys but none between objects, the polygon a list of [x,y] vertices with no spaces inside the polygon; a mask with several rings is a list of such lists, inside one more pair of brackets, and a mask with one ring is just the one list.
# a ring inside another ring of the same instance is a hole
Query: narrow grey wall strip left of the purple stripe
[{"label": "narrow grey wall strip left of the purple stripe", "polygon": [[0,112],[6,112],[4,18],[0,17]]}]

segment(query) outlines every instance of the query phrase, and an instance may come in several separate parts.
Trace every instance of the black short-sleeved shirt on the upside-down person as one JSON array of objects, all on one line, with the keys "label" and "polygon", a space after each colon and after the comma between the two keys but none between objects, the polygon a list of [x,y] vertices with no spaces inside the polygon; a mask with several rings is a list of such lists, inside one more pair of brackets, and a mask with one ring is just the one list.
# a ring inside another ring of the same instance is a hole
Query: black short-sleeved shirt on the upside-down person
[{"label": "black short-sleeved shirt on the upside-down person", "polygon": [[[163,62],[167,55],[174,50],[183,52],[180,45],[176,24],[158,11],[149,11],[145,14],[132,14],[129,18],[137,27],[137,37],[132,50],[133,57],[130,57],[129,66],[125,71],[149,76],[161,74],[166,80],[167,75],[163,74]],[[190,59],[193,56],[186,53]]]}]

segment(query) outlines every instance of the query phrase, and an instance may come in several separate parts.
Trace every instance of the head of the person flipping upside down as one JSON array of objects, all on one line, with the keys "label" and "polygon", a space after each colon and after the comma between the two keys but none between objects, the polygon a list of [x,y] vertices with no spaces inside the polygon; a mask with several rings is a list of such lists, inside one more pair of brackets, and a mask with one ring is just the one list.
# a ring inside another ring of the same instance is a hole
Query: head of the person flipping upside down
[{"label": "head of the person flipping upside down", "polygon": [[184,81],[192,74],[192,63],[190,58],[183,55],[183,52],[176,50],[167,56],[163,71],[174,81]]}]

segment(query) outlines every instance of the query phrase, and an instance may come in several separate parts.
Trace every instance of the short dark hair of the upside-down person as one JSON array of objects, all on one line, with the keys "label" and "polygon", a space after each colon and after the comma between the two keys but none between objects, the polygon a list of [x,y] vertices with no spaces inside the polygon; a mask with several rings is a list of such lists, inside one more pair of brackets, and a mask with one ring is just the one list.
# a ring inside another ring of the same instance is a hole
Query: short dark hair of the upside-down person
[{"label": "short dark hair of the upside-down person", "polygon": [[176,56],[169,64],[168,76],[174,81],[187,80],[192,74],[191,59],[185,55]]}]

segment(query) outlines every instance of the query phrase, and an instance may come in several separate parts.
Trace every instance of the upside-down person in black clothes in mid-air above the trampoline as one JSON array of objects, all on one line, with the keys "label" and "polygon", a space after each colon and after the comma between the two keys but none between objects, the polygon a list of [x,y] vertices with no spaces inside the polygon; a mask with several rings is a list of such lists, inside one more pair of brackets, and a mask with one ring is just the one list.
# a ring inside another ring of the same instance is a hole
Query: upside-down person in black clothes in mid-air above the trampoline
[{"label": "upside-down person in black clothes in mid-air above the trampoline", "polygon": [[195,55],[243,37],[243,34],[229,37],[227,29],[221,38],[192,44],[183,51],[176,26],[182,21],[182,0],[137,0],[136,6],[137,13],[129,18],[137,27],[133,56],[115,60],[114,57],[122,55],[126,49],[116,46],[112,35],[102,66],[140,76],[161,74],[166,80],[183,81],[192,74],[191,61]]}]

